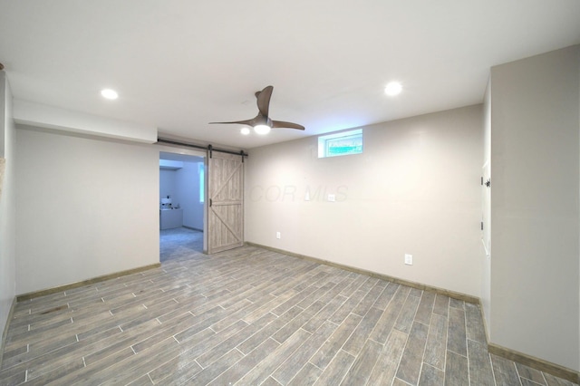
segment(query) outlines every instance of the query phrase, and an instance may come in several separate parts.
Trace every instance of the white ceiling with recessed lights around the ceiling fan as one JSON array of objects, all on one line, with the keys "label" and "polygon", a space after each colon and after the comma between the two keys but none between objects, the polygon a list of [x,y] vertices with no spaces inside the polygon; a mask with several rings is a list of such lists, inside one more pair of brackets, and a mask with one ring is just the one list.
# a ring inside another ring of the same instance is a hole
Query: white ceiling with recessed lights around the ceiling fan
[{"label": "white ceiling with recessed lights around the ceiling fan", "polygon": [[[479,103],[491,66],[575,43],[578,0],[0,0],[15,99],[242,149]],[[269,84],[304,132],[208,124]]]}]

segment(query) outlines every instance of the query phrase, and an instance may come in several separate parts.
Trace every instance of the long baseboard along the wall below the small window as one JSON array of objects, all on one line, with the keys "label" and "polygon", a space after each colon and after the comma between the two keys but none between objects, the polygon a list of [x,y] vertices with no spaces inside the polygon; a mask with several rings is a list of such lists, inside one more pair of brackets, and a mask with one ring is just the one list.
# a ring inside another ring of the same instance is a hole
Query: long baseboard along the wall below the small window
[{"label": "long baseboard along the wall below the small window", "polygon": [[411,288],[417,288],[420,290],[427,290],[427,291],[434,292],[436,294],[443,294],[443,295],[452,297],[453,299],[462,300],[464,302],[478,304],[478,305],[481,304],[481,302],[479,301],[479,298],[477,296],[472,296],[470,294],[462,294],[462,293],[455,292],[455,291],[449,291],[449,290],[444,289],[444,288],[439,288],[439,287],[435,287],[435,286],[431,286],[431,285],[423,285],[421,283],[411,282],[409,280],[404,280],[404,279],[401,279],[399,277],[390,276],[390,275],[382,275],[382,274],[378,274],[376,272],[367,271],[365,269],[357,268],[357,267],[354,267],[351,265],[338,264],[338,263],[334,263],[332,261],[324,260],[324,259],[317,258],[317,257],[295,254],[294,252],[285,251],[284,249],[278,249],[278,248],[274,248],[272,246],[263,246],[261,244],[256,244],[256,243],[251,243],[251,242],[246,242],[246,244],[248,246],[257,246],[259,248],[264,248],[264,249],[267,249],[267,250],[270,250],[273,252],[277,252],[280,254],[298,257],[298,258],[301,258],[303,260],[312,261],[314,263],[334,266],[336,268],[341,268],[341,269],[344,269],[346,271],[356,272],[357,274],[376,277],[378,279],[387,280],[389,282],[396,283],[398,285],[407,285],[407,286],[410,286]]}]

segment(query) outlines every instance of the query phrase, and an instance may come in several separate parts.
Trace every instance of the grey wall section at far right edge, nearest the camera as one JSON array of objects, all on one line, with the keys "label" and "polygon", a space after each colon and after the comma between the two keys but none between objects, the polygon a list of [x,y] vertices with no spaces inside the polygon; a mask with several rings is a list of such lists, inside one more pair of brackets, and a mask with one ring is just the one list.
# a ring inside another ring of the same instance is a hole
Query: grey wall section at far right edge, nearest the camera
[{"label": "grey wall section at far right edge, nearest the camera", "polygon": [[490,340],[578,370],[580,46],[491,69]]}]

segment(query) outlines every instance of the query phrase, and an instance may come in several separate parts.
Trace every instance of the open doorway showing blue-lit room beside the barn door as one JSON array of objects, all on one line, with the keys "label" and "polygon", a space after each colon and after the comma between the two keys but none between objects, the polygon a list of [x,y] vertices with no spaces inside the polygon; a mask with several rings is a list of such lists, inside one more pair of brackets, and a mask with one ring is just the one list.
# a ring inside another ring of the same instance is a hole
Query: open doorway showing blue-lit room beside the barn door
[{"label": "open doorway showing blue-lit room beside the barn door", "polygon": [[204,253],[205,158],[160,151],[160,262]]}]

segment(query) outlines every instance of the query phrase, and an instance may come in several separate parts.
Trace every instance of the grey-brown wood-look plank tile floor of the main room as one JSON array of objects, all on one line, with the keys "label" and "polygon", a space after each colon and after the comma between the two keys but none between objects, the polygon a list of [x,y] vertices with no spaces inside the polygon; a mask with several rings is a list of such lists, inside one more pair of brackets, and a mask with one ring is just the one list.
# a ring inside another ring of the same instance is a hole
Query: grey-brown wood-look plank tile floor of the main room
[{"label": "grey-brown wood-look plank tile floor of the main room", "polygon": [[254,246],[17,304],[21,383],[573,384],[490,356],[475,304]]}]

